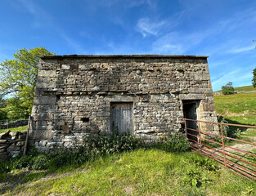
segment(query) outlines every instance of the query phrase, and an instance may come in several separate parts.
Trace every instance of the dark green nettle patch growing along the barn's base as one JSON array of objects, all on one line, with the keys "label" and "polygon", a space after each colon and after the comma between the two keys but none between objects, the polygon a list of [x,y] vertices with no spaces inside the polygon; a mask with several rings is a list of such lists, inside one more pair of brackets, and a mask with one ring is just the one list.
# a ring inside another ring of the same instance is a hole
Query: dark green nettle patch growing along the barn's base
[{"label": "dark green nettle patch growing along the barn's base", "polygon": [[55,170],[65,166],[79,166],[89,160],[106,157],[110,154],[121,154],[139,148],[163,149],[167,152],[185,152],[190,149],[188,140],[181,133],[165,136],[162,140],[148,145],[143,140],[131,134],[99,134],[88,136],[84,145],[73,149],[61,149],[50,154],[39,153],[30,149],[29,154],[17,156],[0,162],[0,172],[28,168],[32,170]]}]

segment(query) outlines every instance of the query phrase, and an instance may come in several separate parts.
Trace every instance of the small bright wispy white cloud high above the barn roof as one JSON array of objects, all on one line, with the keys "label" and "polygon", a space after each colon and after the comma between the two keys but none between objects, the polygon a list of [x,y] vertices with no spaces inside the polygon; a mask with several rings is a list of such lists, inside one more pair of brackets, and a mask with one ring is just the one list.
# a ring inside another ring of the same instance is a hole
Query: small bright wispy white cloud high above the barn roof
[{"label": "small bright wispy white cloud high above the barn roof", "polygon": [[166,25],[166,21],[151,21],[149,18],[141,18],[137,22],[137,31],[145,38],[147,35],[157,35],[159,30]]}]

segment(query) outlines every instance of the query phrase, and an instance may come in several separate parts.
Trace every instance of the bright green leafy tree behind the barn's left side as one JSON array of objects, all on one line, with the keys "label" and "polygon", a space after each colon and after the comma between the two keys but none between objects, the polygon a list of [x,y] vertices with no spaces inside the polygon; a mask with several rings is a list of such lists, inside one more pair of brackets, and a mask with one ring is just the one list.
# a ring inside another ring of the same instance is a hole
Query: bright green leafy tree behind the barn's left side
[{"label": "bright green leafy tree behind the barn's left side", "polygon": [[23,48],[13,55],[14,60],[0,63],[0,96],[11,95],[6,100],[10,118],[29,116],[34,100],[39,57],[50,55],[55,54],[44,47],[29,50]]}]

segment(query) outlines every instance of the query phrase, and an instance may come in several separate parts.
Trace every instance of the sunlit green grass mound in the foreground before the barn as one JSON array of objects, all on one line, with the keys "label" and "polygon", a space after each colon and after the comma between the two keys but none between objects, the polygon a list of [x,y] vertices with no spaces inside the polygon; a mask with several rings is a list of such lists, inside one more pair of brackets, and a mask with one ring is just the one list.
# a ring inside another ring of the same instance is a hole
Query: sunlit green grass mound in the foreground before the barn
[{"label": "sunlit green grass mound in the foreground before the barn", "polygon": [[[100,158],[79,168],[65,167],[53,173],[30,171],[23,178],[19,176],[19,184],[5,195],[256,194],[255,181],[216,164],[191,152],[139,149]],[[8,175],[6,179],[11,179]]]}]

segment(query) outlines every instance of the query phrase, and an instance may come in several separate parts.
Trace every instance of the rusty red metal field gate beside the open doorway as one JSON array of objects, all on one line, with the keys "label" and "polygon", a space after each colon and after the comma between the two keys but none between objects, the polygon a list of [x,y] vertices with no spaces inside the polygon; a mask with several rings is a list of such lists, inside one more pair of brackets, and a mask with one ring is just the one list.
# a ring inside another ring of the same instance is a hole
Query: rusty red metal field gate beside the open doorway
[{"label": "rusty red metal field gate beside the open doorway", "polygon": [[[191,121],[196,122],[196,128],[188,126],[188,122]],[[236,174],[248,176],[256,180],[255,140],[246,141],[227,137],[226,131],[228,131],[228,129],[236,132],[234,127],[239,127],[242,130],[251,128],[251,131],[256,132],[256,126],[206,122],[185,118],[186,137],[191,141],[191,149],[193,151],[213,158],[218,161],[218,163],[229,167],[232,171],[236,171]],[[216,130],[218,130],[218,133],[216,133]],[[195,139],[191,139],[191,136]]]}]

